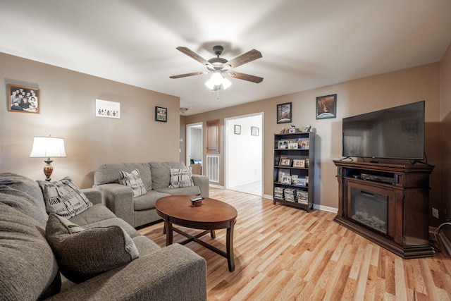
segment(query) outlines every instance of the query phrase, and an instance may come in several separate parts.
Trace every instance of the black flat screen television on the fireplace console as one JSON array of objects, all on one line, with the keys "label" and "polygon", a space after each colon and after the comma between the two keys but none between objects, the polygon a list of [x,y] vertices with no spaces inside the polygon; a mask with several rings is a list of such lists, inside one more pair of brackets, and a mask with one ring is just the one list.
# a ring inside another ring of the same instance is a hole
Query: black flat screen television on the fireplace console
[{"label": "black flat screen television on the fireplace console", "polygon": [[424,101],[343,118],[342,155],[424,159]]}]

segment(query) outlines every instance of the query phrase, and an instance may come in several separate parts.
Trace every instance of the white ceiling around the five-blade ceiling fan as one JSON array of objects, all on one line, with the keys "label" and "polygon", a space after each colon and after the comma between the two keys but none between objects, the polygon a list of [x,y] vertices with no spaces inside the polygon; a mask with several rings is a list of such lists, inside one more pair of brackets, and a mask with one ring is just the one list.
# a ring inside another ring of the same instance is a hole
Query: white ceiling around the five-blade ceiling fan
[{"label": "white ceiling around the five-blade ceiling fan", "polygon": [[[212,47],[235,70],[219,99]],[[0,51],[180,97],[185,115],[440,61],[451,44],[450,0],[0,0]],[[1,68],[1,66],[0,66]],[[39,81],[39,80],[37,80]],[[161,104],[163,105],[163,104]]]}]

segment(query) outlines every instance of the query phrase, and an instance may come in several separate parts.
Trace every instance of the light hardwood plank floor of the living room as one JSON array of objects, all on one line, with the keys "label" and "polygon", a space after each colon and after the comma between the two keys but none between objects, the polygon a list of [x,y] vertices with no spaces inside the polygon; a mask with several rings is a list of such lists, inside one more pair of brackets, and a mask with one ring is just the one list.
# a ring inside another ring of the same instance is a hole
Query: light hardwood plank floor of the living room
[{"label": "light hardwood plank floor of the living room", "polygon": [[[208,300],[451,300],[451,259],[443,254],[406,260],[338,225],[330,212],[308,214],[217,188],[210,197],[233,205],[238,216],[232,273],[224,257],[186,245],[206,259]],[[166,243],[163,223],[140,233]],[[225,250],[225,230],[202,239]]]}]

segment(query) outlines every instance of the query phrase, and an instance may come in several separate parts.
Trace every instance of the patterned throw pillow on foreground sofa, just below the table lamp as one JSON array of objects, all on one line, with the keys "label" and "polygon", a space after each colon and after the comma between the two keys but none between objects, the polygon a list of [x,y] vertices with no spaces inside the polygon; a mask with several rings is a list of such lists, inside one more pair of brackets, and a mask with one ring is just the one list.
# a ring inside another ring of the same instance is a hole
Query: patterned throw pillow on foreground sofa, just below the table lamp
[{"label": "patterned throw pillow on foreground sofa, just below the table lamp", "polygon": [[92,202],[69,177],[55,182],[38,180],[37,183],[41,187],[45,207],[49,213],[53,212],[70,219],[92,207]]}]

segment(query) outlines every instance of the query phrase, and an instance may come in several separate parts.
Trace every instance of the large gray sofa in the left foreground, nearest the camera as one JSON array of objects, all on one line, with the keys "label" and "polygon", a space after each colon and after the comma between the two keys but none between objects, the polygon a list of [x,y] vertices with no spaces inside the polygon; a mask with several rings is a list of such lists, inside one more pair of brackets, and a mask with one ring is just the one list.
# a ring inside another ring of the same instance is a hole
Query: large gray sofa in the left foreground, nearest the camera
[{"label": "large gray sofa in the left foreground, nearest the camera", "polygon": [[159,247],[107,209],[99,190],[81,192],[89,204],[66,219],[47,214],[42,183],[0,173],[0,300],[206,300],[202,257]]}]

